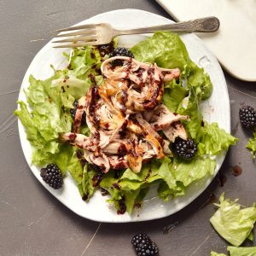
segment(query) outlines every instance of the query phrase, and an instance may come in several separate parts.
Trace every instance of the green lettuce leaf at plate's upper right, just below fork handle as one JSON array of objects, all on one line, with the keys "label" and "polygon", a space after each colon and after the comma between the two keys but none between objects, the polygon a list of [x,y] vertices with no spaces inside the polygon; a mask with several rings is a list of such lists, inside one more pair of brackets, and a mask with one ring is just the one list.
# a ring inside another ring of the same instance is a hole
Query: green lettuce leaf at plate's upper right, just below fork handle
[{"label": "green lettuce leaf at plate's upper right, just below fork handle", "polygon": [[[182,79],[193,89],[199,101],[212,94],[212,82],[203,68],[189,59],[183,41],[175,33],[155,32],[152,38],[139,42],[131,48],[138,61],[155,62],[159,67],[176,68],[182,72]],[[164,96],[165,97],[165,96]]]}]

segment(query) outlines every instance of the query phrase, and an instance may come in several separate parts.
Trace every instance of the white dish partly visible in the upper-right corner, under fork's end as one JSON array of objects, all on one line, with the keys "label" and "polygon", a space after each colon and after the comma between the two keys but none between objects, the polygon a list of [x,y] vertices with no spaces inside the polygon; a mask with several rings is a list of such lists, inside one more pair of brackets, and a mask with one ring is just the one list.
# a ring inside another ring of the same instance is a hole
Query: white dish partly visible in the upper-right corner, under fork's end
[{"label": "white dish partly visible in the upper-right corner, under fork's end", "polygon": [[236,79],[256,81],[255,0],[156,0],[177,21],[216,16],[218,32],[198,36]]}]

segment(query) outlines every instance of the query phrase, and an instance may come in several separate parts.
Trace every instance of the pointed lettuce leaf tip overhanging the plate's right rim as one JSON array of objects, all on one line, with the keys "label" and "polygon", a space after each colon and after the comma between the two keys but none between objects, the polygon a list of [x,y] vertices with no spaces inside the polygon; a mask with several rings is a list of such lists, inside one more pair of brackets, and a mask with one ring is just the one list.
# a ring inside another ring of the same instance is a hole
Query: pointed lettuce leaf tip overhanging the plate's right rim
[{"label": "pointed lettuce leaf tip overhanging the plate's right rim", "polygon": [[200,154],[216,155],[222,150],[228,150],[230,145],[235,145],[238,138],[220,129],[217,123],[204,122],[198,140],[200,141],[198,144]]}]

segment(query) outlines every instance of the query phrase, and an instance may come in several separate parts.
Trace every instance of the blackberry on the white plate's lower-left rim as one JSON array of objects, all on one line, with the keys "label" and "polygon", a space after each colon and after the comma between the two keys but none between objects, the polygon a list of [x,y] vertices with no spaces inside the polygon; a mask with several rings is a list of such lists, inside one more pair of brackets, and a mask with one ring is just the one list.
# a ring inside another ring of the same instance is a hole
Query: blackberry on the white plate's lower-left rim
[{"label": "blackberry on the white plate's lower-left rim", "polygon": [[50,187],[54,189],[60,189],[63,184],[63,178],[61,170],[55,164],[49,164],[45,168],[41,169],[41,177],[45,183],[48,183]]}]

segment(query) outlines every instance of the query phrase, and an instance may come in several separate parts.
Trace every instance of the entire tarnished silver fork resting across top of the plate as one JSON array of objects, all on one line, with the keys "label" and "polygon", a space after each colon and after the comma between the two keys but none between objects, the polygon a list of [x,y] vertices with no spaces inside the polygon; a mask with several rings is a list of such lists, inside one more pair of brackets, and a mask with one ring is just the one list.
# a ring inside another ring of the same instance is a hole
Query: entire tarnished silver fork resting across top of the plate
[{"label": "entire tarnished silver fork resting across top of the plate", "polygon": [[81,26],[71,26],[63,29],[58,29],[53,32],[68,32],[61,33],[55,38],[65,38],[53,41],[52,43],[73,43],[73,44],[59,44],[54,48],[74,48],[84,47],[86,45],[100,45],[108,44],[111,40],[120,35],[152,33],[157,31],[171,31],[171,32],[216,32],[219,27],[219,20],[216,17],[205,17],[196,20],[188,20],[177,22],[173,24],[161,26],[149,26],[142,28],[135,28],[129,30],[114,29],[108,23],[87,24]]}]

